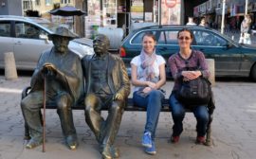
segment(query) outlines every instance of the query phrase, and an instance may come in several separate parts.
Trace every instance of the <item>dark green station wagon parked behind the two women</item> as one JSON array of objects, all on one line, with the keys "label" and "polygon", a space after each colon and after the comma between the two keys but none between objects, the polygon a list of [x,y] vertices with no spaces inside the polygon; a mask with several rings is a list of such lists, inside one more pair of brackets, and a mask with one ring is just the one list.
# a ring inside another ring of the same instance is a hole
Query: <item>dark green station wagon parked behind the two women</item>
[{"label": "dark green station wagon parked behind the two women", "polygon": [[[147,26],[131,32],[122,42],[119,55],[130,71],[130,62],[141,50],[145,32],[155,34],[156,53],[166,60],[178,51],[177,32],[182,28],[192,30],[192,49],[202,51],[207,59],[215,61],[216,77],[251,77],[256,80],[256,46],[238,44],[228,36],[203,26]],[[167,67],[167,76],[171,75]]]}]

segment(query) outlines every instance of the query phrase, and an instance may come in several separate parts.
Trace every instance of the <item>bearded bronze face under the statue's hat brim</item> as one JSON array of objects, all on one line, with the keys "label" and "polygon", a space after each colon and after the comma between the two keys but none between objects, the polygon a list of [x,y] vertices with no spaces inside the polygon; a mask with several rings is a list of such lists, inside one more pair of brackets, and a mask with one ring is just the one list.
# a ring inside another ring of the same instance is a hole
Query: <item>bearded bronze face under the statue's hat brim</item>
[{"label": "bearded bronze face under the statue's hat brim", "polygon": [[57,51],[64,53],[68,50],[69,38],[62,36],[54,36],[52,37],[52,42]]}]

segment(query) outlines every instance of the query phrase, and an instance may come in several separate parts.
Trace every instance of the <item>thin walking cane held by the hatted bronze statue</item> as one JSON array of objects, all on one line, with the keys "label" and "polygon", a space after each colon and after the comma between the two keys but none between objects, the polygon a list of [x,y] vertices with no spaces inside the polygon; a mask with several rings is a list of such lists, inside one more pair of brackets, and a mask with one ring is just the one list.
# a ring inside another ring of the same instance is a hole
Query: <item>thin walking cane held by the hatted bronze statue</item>
[{"label": "thin walking cane held by the hatted bronze statue", "polygon": [[46,74],[44,74],[43,152],[46,152]]}]

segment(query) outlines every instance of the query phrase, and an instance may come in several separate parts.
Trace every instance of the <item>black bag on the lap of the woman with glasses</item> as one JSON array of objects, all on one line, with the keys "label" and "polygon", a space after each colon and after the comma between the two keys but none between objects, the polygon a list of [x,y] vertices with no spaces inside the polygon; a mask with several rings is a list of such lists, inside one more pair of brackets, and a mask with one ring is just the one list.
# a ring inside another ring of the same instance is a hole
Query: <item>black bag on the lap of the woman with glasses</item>
[{"label": "black bag on the lap of the woman with glasses", "polygon": [[210,81],[203,77],[182,81],[176,92],[177,99],[186,105],[205,105],[210,101]]}]

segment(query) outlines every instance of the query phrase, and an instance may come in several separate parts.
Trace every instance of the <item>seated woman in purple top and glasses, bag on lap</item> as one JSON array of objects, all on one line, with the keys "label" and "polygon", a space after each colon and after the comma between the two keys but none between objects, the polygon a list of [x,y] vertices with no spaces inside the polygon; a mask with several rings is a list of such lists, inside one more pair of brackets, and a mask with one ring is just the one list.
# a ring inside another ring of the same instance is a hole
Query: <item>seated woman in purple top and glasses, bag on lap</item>
[{"label": "seated woman in purple top and glasses, bag on lap", "polygon": [[[179,52],[175,53],[169,58],[169,65],[174,78],[174,89],[170,96],[170,109],[174,119],[173,134],[171,141],[177,143],[179,136],[183,131],[182,121],[185,116],[186,108],[190,105],[181,103],[176,97],[175,92],[180,87],[182,80],[196,79],[200,76],[209,78],[210,72],[206,64],[205,56],[200,51],[192,50],[191,44],[193,41],[192,31],[183,28],[177,33],[178,44],[180,47]],[[187,71],[187,68],[198,68],[193,71]],[[193,107],[193,115],[196,117],[196,142],[200,144],[205,143],[205,135],[207,130],[207,124],[209,122],[209,113],[207,105],[198,105]]]}]

